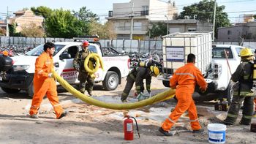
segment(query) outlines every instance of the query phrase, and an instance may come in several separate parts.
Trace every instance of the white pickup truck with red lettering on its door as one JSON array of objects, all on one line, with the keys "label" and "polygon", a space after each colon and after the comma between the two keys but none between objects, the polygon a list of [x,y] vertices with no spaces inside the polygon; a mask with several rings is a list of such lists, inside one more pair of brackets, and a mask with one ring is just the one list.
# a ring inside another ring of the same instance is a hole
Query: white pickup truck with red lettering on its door
[{"label": "white pickup truck with red lettering on its door", "polygon": [[[56,51],[53,62],[56,72],[69,84],[78,84],[78,72],[73,68],[73,58],[81,50],[81,42],[55,42]],[[106,90],[114,90],[121,84],[121,77],[129,74],[129,56],[121,56],[112,48],[102,48],[99,42],[90,42],[89,50],[102,56],[104,71],[99,68],[95,75],[95,82],[102,82]],[[107,51],[108,53],[105,53]],[[33,77],[37,56],[43,52],[43,45],[30,50],[23,56],[12,57],[14,64],[6,77],[0,80],[0,86],[6,93],[17,93],[25,90],[33,96]],[[57,83],[59,85],[59,83]]]}]

